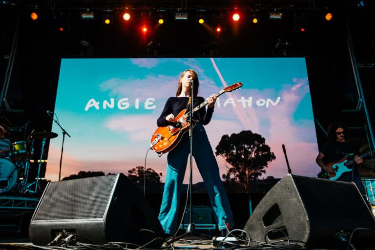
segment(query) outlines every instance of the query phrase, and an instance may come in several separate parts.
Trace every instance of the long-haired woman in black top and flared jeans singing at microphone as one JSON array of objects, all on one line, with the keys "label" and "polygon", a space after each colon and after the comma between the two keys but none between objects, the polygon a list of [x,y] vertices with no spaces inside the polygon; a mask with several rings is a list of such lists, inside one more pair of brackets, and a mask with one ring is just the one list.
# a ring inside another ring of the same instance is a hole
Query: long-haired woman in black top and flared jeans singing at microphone
[{"label": "long-haired woman in black top and flared jeans singing at microphone", "polygon": [[[193,97],[190,97],[191,80],[194,84]],[[192,69],[185,70],[179,81],[176,97],[170,97],[157,120],[158,126],[172,125],[174,117],[187,104],[193,101],[193,106],[197,106],[205,101],[203,97],[198,97],[199,80],[197,73]],[[206,130],[203,125],[207,125],[212,117],[216,96],[207,98],[208,108],[201,108],[192,117],[195,126],[193,128],[193,151],[199,172],[207,188],[211,207],[215,212],[215,220],[219,230],[226,232],[227,227],[232,228],[233,215],[223,183],[220,179],[219,167],[213,155],[212,147],[209,144]],[[188,132],[185,133],[180,143],[167,155],[167,175],[164,186],[163,201],[160,208],[159,220],[166,234],[173,235],[177,227],[177,215],[180,202],[181,186],[187,166],[190,141]]]}]

